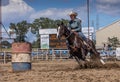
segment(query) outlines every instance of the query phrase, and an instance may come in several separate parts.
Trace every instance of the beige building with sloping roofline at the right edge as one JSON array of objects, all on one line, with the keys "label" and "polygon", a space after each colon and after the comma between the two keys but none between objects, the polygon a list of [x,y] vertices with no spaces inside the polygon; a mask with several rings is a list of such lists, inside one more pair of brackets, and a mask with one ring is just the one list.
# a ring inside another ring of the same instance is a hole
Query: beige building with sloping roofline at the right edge
[{"label": "beige building with sloping roofline at the right edge", "polygon": [[117,37],[120,40],[120,20],[96,31],[96,46],[108,43],[108,37]]}]

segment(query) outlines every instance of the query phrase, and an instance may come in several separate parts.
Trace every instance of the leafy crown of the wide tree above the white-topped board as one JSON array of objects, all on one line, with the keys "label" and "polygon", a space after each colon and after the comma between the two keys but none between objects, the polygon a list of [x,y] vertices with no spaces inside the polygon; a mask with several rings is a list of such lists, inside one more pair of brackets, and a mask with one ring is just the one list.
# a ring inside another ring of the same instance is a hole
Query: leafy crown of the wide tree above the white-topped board
[{"label": "leafy crown of the wide tree above the white-topped board", "polygon": [[[68,20],[65,20],[65,19],[61,19],[61,20],[52,20],[50,18],[44,18],[44,17],[41,17],[41,18],[38,18],[38,19],[35,19],[32,24],[31,24],[31,30],[34,32],[34,31],[38,31],[39,29],[44,29],[44,28],[57,28],[57,24],[58,23],[61,23],[64,22],[64,24],[67,25],[68,23]],[[36,32],[34,32],[36,33]]]}]

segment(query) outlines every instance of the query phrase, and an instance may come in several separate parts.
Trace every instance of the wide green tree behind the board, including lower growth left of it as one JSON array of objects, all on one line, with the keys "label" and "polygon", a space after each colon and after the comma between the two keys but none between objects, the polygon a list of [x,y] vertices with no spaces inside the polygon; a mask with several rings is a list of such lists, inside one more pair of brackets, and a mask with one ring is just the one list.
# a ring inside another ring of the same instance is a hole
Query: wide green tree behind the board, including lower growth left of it
[{"label": "wide green tree behind the board, including lower growth left of it", "polygon": [[52,20],[50,18],[37,18],[35,19],[32,23],[31,23],[31,32],[33,34],[36,34],[37,37],[37,41],[34,42],[33,45],[37,46],[40,45],[40,35],[39,35],[39,29],[45,29],[45,28],[57,28],[57,24],[60,24],[62,22],[65,23],[65,25],[67,25],[68,20],[65,19],[61,19],[61,20]]}]

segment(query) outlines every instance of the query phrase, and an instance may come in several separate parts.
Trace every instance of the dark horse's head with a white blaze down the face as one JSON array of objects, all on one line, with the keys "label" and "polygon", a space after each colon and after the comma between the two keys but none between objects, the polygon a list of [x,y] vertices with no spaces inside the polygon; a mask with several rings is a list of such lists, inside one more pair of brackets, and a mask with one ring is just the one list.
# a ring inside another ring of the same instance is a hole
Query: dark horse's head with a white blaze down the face
[{"label": "dark horse's head with a white blaze down the face", "polygon": [[61,24],[58,24],[57,38],[60,40],[64,34],[65,34],[65,26],[64,23],[62,22]]}]

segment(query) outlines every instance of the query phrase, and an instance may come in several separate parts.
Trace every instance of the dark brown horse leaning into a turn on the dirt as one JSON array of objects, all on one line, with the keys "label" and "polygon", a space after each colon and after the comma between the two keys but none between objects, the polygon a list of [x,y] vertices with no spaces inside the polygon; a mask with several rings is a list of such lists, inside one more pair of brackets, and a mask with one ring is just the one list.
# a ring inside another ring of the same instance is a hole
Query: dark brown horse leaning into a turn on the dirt
[{"label": "dark brown horse leaning into a turn on the dirt", "polygon": [[[81,65],[80,62],[83,62],[83,66],[85,65],[84,62],[86,61],[88,52],[90,52],[90,57],[92,59],[101,59],[92,40],[87,39],[88,47],[82,37],[78,36],[76,32],[69,30],[63,22],[58,24],[57,28],[57,38],[60,40],[62,36],[66,38],[66,41],[69,44],[69,53],[75,57],[79,65]],[[100,61],[103,63],[102,60]]]}]

